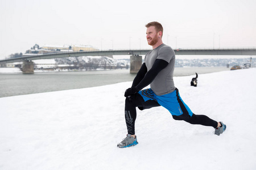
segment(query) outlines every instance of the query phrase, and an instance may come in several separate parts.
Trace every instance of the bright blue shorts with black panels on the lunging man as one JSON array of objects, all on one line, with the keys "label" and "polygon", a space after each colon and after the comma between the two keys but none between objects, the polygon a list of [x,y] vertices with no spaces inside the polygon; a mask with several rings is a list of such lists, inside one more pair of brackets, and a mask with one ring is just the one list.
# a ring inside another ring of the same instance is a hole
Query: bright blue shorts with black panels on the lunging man
[{"label": "bright blue shorts with black panels on the lunging man", "polygon": [[143,97],[144,102],[148,100],[155,100],[157,103],[166,108],[172,116],[183,116],[184,118],[191,117],[192,111],[189,109],[187,104],[181,99],[179,90],[176,88],[175,91],[170,94],[158,96],[151,90],[151,88],[138,92]]}]

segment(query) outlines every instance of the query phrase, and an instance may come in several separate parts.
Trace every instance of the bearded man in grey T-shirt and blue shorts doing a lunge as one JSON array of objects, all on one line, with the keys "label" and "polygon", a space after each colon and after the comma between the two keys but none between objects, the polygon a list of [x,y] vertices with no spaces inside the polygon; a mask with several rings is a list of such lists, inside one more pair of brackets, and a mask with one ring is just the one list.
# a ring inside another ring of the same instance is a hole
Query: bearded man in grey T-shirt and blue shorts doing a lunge
[{"label": "bearded man in grey T-shirt and blue shorts doing a lunge", "polygon": [[[158,22],[146,25],[146,38],[152,50],[145,56],[145,62],[133,80],[131,88],[125,91],[125,121],[128,134],[118,147],[130,147],[138,144],[135,135],[136,107],[140,110],[162,106],[166,108],[175,120],[183,120],[190,124],[212,126],[214,134],[220,135],[226,125],[205,115],[192,113],[183,102],[179,90],[174,86],[175,52],[163,44],[163,27]],[[150,84],[150,88],[142,90]],[[142,90],[142,91],[141,91]]]}]

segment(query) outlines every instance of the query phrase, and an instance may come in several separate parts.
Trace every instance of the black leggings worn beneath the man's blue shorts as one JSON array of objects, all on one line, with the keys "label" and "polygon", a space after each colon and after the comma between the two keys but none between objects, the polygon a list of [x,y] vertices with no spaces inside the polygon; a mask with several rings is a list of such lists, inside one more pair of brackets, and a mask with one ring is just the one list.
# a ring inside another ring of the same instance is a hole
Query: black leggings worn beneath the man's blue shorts
[{"label": "black leggings worn beneath the man's blue shorts", "polygon": [[[160,104],[158,104],[155,100],[147,100],[144,101],[142,96],[138,93],[129,97],[126,97],[125,100],[125,121],[127,126],[128,134],[134,135],[135,134],[135,120],[137,117],[136,107],[138,107],[140,110],[143,109],[149,109],[152,107],[159,107]],[[213,128],[217,128],[218,122],[212,120],[208,116],[205,115],[196,115],[192,114],[190,117],[183,117],[181,116],[174,116],[172,115],[174,120],[183,120],[188,122],[189,124],[193,125],[203,125],[203,126],[212,126]]]}]

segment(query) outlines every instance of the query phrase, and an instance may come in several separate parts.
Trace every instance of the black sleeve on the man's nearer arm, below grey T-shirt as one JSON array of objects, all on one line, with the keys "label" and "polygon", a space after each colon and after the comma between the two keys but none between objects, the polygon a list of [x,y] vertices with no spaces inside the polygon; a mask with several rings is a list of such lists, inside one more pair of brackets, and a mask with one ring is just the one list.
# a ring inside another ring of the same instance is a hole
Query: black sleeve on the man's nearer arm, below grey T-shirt
[{"label": "black sleeve on the man's nearer arm, below grey T-shirt", "polygon": [[137,91],[142,90],[142,88],[148,86],[158,75],[158,73],[163,70],[165,67],[167,67],[169,63],[167,61],[164,61],[163,59],[156,59],[152,68],[147,71],[144,78],[139,82],[139,84],[135,87]]}]

